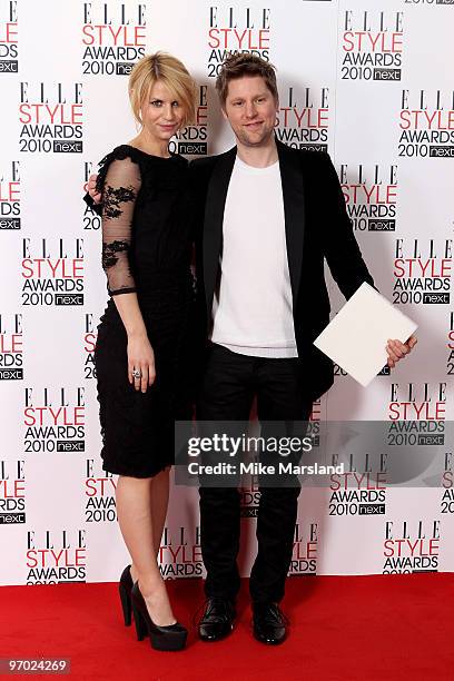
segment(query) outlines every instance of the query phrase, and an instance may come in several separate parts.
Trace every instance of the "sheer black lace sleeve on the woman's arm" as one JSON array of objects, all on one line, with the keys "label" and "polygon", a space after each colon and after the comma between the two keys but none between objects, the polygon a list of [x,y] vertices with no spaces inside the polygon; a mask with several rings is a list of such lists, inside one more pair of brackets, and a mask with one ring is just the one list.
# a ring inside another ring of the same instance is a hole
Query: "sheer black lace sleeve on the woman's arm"
[{"label": "sheer black lace sleeve on the woman's arm", "polygon": [[140,185],[139,166],[130,158],[112,160],[98,177],[102,188],[102,268],[111,296],[136,292],[129,247]]}]

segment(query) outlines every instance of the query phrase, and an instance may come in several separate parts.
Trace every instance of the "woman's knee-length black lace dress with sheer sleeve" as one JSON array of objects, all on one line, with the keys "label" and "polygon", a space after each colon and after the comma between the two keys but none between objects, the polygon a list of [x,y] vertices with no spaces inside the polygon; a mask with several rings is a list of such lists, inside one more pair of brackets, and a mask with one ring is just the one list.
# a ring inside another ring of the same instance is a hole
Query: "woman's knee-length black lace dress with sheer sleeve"
[{"label": "woman's knee-length black lace dress with sheer sleeve", "polygon": [[114,298],[95,353],[103,468],[150,477],[174,462],[174,422],[190,418],[191,191],[188,162],[134,147],[101,161],[102,266],[115,297],[136,292],[155,352],[146,393],[128,382],[127,335]]}]

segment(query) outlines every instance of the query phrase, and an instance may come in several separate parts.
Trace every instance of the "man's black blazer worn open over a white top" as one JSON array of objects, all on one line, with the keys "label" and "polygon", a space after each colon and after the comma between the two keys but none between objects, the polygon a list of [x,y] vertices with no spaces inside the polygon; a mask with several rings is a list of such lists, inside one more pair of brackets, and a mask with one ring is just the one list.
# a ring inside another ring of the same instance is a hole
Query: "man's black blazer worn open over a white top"
[{"label": "man's black blazer worn open over a white top", "polygon": [[[294,325],[302,376],[313,399],[334,381],[333,363],[314,345],[329,322],[324,260],[346,298],[363,282],[374,286],[353,234],[340,185],[327,154],[303,151],[276,140],[284,195],[285,231]],[[219,277],[223,220],[236,147],[190,164],[196,195],[196,261],[205,338]],[[259,215],[257,215],[259,219]],[[259,248],[259,244],[257,244]],[[254,276],[251,273],[250,276]]]}]

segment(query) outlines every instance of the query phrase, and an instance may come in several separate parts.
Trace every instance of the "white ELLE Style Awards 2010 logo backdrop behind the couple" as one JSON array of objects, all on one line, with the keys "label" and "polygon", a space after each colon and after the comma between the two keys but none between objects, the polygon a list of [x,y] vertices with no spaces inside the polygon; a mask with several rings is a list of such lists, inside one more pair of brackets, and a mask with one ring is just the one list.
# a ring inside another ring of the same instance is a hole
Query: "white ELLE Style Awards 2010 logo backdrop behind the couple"
[{"label": "white ELLE Style Awards 2010 logo backdrop behind the couple", "polygon": [[[171,141],[188,158],[234,142],[214,89],[226,53],[277,67],[277,137],[329,152],[377,287],[418,324],[396,369],[365,389],[336,367],[314,404],[314,430],[384,422],[387,454],[356,451],[303,490],[290,573],[454,571],[453,27],[452,0],[0,0],[0,583],[112,581],[128,560],[99,457],[101,226],[81,197],[136,135],[128,75],[156,50],[198,83],[197,125]],[[389,485],[392,446],[415,443]],[[253,480],[245,575],[258,500]],[[204,575],[196,488],[172,487],[159,557],[168,578]]]}]

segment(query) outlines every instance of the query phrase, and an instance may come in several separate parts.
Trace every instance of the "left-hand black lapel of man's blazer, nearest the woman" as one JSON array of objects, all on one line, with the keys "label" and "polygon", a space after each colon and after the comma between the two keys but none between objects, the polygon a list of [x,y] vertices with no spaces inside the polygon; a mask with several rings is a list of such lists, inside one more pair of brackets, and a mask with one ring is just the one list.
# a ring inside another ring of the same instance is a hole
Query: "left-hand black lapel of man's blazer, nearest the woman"
[{"label": "left-hand black lapel of man's blazer, nearest the woman", "polygon": [[223,248],[223,223],[228,185],[236,159],[236,147],[217,160],[208,184],[204,218],[204,283],[208,320],[211,318],[213,297]]}]

